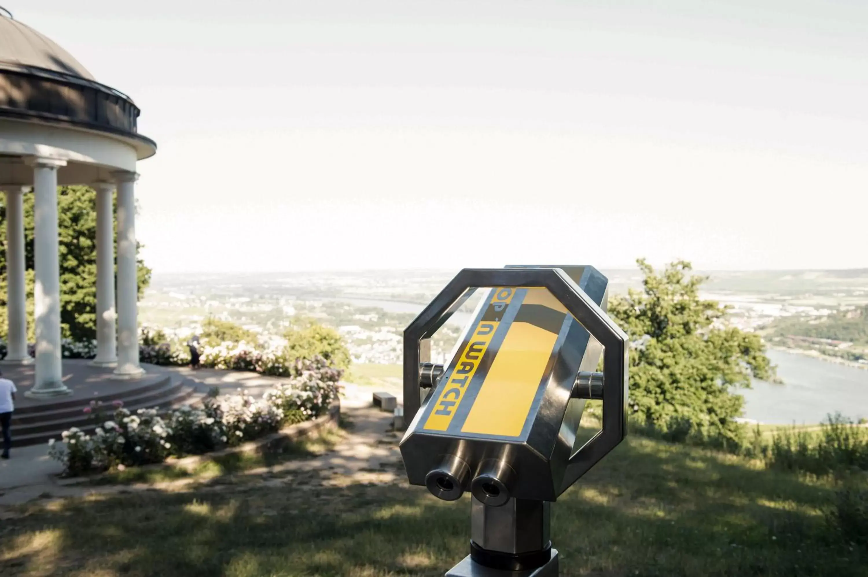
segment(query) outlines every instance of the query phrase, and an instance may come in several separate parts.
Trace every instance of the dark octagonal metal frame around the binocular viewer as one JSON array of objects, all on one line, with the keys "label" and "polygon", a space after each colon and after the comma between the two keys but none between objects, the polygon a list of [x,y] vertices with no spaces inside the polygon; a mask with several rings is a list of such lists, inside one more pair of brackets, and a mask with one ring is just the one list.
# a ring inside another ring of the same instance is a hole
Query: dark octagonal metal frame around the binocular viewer
[{"label": "dark octagonal metal frame around the binocular viewer", "polygon": [[404,419],[412,423],[421,406],[422,340],[431,338],[477,289],[499,286],[548,289],[603,346],[602,429],[570,456],[562,492],[627,435],[628,337],[560,268],[465,268],[458,272],[404,329]]}]

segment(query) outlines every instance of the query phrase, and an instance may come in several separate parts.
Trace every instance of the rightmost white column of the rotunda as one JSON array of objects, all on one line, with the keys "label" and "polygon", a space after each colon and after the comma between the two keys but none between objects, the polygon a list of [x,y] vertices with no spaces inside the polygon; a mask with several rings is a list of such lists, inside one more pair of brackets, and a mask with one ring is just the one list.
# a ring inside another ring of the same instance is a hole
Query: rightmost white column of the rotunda
[{"label": "rightmost white column of the rotunda", "polygon": [[135,378],[139,366],[138,283],[135,263],[135,173],[115,173],[117,181],[117,368],[115,376]]}]

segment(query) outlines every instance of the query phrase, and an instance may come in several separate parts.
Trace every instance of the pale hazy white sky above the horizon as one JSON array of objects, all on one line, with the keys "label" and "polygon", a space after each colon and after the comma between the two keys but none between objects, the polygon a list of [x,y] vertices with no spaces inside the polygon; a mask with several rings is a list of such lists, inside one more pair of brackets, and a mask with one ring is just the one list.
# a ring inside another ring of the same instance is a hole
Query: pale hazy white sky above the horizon
[{"label": "pale hazy white sky above the horizon", "polygon": [[0,0],[131,95],[156,272],[868,266],[865,0]]}]

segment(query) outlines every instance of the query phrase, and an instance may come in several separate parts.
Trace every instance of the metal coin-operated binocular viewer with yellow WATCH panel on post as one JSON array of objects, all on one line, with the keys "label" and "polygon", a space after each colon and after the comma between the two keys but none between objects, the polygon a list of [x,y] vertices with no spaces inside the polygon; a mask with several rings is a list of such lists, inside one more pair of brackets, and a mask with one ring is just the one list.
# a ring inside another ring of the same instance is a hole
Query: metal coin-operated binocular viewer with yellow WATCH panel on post
[{"label": "metal coin-operated binocular viewer with yellow WATCH panel on post", "polygon": [[[422,358],[477,289],[450,363]],[[472,495],[470,554],[446,577],[558,574],[550,503],[627,434],[627,336],[607,299],[591,266],[464,269],[404,330],[407,476],[445,501]],[[588,399],[602,400],[602,429],[580,443]]]}]

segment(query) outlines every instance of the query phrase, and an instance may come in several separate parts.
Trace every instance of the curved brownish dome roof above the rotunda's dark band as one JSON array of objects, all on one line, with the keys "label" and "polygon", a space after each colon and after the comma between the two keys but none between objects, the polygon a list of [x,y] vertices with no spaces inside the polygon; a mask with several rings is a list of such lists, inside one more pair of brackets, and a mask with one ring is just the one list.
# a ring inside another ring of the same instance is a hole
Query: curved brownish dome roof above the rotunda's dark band
[{"label": "curved brownish dome roof above the rotunda's dark band", "polygon": [[0,63],[95,78],[66,50],[26,24],[0,15]]}]

